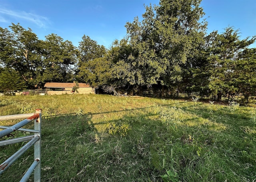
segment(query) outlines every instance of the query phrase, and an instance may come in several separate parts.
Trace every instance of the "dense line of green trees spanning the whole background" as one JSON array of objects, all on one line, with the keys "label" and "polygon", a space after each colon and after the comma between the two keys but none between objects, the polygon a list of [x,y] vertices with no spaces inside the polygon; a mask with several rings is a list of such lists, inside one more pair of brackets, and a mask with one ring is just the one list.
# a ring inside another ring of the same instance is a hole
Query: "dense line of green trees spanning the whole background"
[{"label": "dense line of green trees spanning the whole background", "polygon": [[0,27],[0,90],[76,80],[130,95],[197,92],[220,100],[242,93],[248,100],[256,94],[256,48],[248,48],[256,37],[241,40],[233,27],[207,35],[200,2],[146,6],[143,20],[127,22],[126,37],[109,49],[86,35],[75,47],[56,34],[39,40],[20,24]]}]

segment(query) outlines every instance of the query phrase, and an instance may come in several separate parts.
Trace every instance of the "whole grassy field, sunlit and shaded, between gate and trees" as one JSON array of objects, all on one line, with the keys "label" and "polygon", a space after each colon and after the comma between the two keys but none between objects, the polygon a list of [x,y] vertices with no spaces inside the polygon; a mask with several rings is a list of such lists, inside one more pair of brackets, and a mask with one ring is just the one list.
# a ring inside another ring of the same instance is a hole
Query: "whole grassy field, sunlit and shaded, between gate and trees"
[{"label": "whole grassy field, sunlit and shaded, between gate and trees", "polygon": [[[254,107],[109,95],[0,97],[0,115],[36,108],[44,182],[256,182]],[[21,145],[0,147],[0,163]],[[19,181],[32,161],[30,149],[0,181]]]}]

